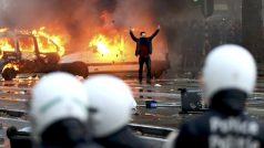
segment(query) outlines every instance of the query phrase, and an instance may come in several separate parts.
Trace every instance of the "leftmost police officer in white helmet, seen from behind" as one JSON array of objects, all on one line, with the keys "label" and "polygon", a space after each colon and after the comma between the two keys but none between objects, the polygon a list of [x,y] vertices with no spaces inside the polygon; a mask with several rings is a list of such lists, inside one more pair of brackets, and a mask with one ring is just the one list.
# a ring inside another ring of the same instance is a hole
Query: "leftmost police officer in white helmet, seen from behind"
[{"label": "leftmost police officer in white helmet, seen from behind", "polygon": [[37,147],[99,147],[87,137],[88,95],[81,82],[65,73],[41,78],[32,91],[30,116]]}]

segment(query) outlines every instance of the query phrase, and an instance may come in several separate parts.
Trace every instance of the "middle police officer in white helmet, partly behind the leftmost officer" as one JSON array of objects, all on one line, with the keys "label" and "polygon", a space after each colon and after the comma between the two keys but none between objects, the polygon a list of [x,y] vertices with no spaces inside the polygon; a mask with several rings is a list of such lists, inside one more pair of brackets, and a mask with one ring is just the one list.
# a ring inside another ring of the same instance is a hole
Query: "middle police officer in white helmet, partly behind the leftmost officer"
[{"label": "middle police officer in white helmet, partly behind the leftmost officer", "polygon": [[106,148],[150,148],[129,129],[133,106],[130,87],[121,80],[97,75],[84,81],[94,140]]}]

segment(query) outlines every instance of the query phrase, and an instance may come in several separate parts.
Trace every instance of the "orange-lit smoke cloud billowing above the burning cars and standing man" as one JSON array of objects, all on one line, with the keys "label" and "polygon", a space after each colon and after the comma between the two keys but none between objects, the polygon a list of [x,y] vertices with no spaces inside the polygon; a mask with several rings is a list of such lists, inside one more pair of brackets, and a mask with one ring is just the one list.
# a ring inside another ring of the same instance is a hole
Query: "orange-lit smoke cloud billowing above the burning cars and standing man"
[{"label": "orange-lit smoke cloud billowing above the burning cars and standing man", "polygon": [[[193,15],[186,0],[0,0],[0,28],[38,29],[63,34],[67,52],[87,47],[89,39],[102,30],[123,32],[129,28],[151,34],[158,24],[162,32],[155,49],[179,49],[176,22]],[[196,15],[194,15],[195,18]],[[51,29],[51,30],[50,30]],[[165,50],[163,50],[165,51]],[[171,55],[174,55],[171,54]],[[172,57],[174,59],[174,57]]]}]

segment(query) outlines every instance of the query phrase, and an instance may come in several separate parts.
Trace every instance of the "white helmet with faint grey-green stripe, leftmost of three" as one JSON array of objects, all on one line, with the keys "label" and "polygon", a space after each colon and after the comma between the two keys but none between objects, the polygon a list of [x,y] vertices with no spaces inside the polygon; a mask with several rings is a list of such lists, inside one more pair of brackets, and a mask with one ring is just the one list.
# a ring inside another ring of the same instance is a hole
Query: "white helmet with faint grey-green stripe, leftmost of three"
[{"label": "white helmet with faint grey-green stripe, leftmost of three", "polygon": [[32,89],[30,115],[35,138],[52,124],[77,118],[88,120],[88,95],[81,82],[67,73],[52,73],[42,77]]}]

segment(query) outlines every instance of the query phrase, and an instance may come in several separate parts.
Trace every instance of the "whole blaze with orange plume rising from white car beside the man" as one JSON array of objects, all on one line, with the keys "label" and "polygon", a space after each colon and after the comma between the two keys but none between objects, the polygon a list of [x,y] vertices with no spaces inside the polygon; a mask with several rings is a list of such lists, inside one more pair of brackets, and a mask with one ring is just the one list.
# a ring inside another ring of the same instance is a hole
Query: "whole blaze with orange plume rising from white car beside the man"
[{"label": "whole blaze with orange plume rising from white car beside the man", "polygon": [[103,25],[97,27],[89,40],[88,49],[98,52],[94,59],[99,62],[121,62],[131,49],[128,42],[128,30],[116,28],[113,17],[108,11],[102,11],[100,19]]}]

